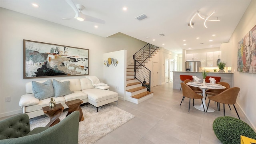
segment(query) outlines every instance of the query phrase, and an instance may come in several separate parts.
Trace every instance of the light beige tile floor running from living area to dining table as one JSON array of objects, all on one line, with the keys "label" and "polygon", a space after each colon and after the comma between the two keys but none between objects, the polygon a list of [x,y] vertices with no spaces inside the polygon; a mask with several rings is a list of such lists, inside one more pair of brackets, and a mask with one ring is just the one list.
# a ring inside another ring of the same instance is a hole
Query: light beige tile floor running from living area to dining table
[{"label": "light beige tile floor running from living area to dining table", "polygon": [[[215,112],[206,113],[194,108],[191,100],[188,112],[189,99],[185,98],[180,106],[182,91],[172,89],[172,82],[152,87],[152,91],[154,97],[140,104],[119,100],[116,107],[136,117],[94,144],[221,144],[212,130],[212,123],[223,116],[223,105],[217,111],[211,101],[210,107]],[[201,104],[201,100],[195,99],[195,104]],[[248,123],[238,105],[236,108],[241,120]],[[227,116],[238,118],[233,106],[230,110],[225,105],[225,109]]]}]

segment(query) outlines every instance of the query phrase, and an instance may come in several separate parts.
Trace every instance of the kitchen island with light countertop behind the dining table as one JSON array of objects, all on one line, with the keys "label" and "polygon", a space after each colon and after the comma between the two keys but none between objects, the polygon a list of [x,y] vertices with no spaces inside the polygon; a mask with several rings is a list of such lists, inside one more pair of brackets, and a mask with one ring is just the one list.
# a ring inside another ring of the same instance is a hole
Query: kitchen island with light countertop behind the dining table
[{"label": "kitchen island with light countertop behind the dining table", "polygon": [[[173,72],[173,86],[172,89],[180,89],[180,83],[182,82],[180,80],[180,75],[195,75],[199,79],[201,79],[199,82],[202,83],[203,77],[201,72],[191,72],[191,71],[174,71]],[[213,77],[221,77],[221,82],[226,82],[230,85],[230,87],[233,87],[234,82],[234,73],[219,73],[219,72],[208,72],[207,76],[213,76]]]}]

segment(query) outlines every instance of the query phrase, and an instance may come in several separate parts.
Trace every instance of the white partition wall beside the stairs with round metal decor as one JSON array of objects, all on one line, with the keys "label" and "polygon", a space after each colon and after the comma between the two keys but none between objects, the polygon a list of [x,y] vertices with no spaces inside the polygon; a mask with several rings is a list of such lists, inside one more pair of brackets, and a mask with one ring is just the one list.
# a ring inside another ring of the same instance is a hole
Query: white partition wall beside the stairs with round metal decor
[{"label": "white partition wall beside the stairs with round metal decor", "polygon": [[126,90],[126,53],[126,50],[121,50],[103,54],[103,61],[108,60],[108,58],[118,60],[116,66],[106,67],[104,65],[103,77],[104,81],[110,86],[110,91],[118,93],[119,99],[122,100],[124,100]]}]

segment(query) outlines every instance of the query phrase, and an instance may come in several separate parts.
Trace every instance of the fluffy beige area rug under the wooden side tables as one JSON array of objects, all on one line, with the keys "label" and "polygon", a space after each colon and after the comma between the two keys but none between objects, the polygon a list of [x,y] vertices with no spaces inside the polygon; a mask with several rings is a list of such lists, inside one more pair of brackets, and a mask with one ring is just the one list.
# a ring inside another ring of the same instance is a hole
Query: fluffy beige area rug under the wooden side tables
[{"label": "fluffy beige area rug under the wooden side tables", "polygon": [[[99,107],[98,112],[96,112],[96,107],[88,104],[88,107],[82,106],[82,111],[84,121],[79,122],[78,144],[92,144],[135,117],[110,104]],[[60,120],[63,120],[67,113],[67,110],[64,111]],[[48,117],[32,120],[30,130],[44,127],[49,121]]]}]

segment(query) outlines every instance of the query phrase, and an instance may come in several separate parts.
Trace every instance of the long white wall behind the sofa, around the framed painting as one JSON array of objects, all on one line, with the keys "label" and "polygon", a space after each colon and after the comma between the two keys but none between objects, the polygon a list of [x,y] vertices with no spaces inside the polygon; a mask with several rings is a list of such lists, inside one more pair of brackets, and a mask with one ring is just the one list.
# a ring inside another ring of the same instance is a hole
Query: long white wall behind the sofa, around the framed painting
[{"label": "long white wall behind the sofa, around the framed painting", "polygon": [[[132,57],[146,45],[121,33],[100,37],[4,8],[0,8],[0,32],[0,117],[22,112],[19,100],[25,94],[27,82],[48,79],[23,79],[23,39],[89,49],[89,74],[101,82],[104,82],[104,53],[126,49],[127,57]],[[11,97],[11,101],[5,102],[5,97]]]}]

